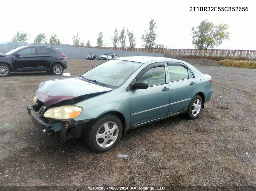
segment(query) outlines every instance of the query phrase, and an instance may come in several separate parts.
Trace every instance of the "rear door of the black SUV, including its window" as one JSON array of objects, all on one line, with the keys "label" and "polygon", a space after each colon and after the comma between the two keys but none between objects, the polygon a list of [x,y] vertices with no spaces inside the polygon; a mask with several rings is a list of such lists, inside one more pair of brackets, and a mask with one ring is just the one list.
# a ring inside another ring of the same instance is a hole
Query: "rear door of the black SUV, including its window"
[{"label": "rear door of the black SUV, including its window", "polygon": [[38,63],[38,69],[48,69],[50,68],[51,62],[54,60],[54,54],[49,48],[38,47],[36,60]]}]

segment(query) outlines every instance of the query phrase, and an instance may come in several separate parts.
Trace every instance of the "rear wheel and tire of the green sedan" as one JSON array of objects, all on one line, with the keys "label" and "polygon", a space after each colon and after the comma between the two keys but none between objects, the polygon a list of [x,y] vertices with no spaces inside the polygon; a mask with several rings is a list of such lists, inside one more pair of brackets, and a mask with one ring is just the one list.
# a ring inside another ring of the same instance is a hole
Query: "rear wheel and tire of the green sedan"
[{"label": "rear wheel and tire of the green sedan", "polygon": [[187,117],[189,119],[197,118],[199,116],[199,114],[201,113],[202,104],[203,104],[203,101],[202,101],[201,96],[195,95],[188,106],[188,110],[186,113]]}]

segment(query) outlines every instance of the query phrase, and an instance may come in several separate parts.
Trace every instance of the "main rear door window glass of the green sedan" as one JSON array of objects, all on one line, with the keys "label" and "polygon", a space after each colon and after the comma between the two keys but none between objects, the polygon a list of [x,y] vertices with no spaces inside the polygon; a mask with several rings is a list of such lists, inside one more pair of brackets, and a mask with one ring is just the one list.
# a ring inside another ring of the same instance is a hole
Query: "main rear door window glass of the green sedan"
[{"label": "main rear door window glass of the green sedan", "polygon": [[188,79],[188,69],[181,65],[168,65],[170,82]]}]

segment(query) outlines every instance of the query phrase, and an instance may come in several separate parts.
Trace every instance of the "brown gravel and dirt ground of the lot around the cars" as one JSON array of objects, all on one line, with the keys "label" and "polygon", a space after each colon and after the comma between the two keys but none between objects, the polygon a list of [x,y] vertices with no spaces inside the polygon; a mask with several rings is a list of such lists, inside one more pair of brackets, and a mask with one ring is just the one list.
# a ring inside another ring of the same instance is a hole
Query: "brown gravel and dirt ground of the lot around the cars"
[{"label": "brown gravel and dirt ground of the lot around the cars", "polygon": [[[26,113],[47,72],[0,79],[0,185],[256,185],[256,70],[189,60],[213,95],[194,120],[175,116],[128,131],[110,151],[43,135]],[[68,59],[75,77],[101,61]],[[128,158],[118,158],[127,154]]]}]

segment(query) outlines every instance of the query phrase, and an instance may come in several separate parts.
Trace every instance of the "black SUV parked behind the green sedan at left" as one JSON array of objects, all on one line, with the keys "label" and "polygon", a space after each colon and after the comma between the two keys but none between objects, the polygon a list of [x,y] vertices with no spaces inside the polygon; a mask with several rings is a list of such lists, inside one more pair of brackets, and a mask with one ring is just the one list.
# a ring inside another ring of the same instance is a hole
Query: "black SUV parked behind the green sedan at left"
[{"label": "black SUV parked behind the green sedan at left", "polygon": [[66,56],[60,49],[49,46],[20,46],[0,54],[0,77],[10,72],[52,72],[62,75],[67,69]]}]

